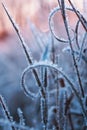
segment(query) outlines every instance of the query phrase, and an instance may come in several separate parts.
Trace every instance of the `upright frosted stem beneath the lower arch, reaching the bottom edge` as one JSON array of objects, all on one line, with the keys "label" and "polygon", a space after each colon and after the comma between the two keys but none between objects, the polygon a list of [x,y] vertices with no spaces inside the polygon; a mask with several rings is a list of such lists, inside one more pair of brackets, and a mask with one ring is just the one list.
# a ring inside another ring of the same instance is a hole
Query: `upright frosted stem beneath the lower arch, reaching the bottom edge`
[{"label": "upright frosted stem beneath the lower arch, reaching the bottom edge", "polygon": [[47,68],[41,67],[41,81],[43,90],[41,94],[41,118],[43,123],[43,130],[48,130],[48,84],[47,84]]}]

